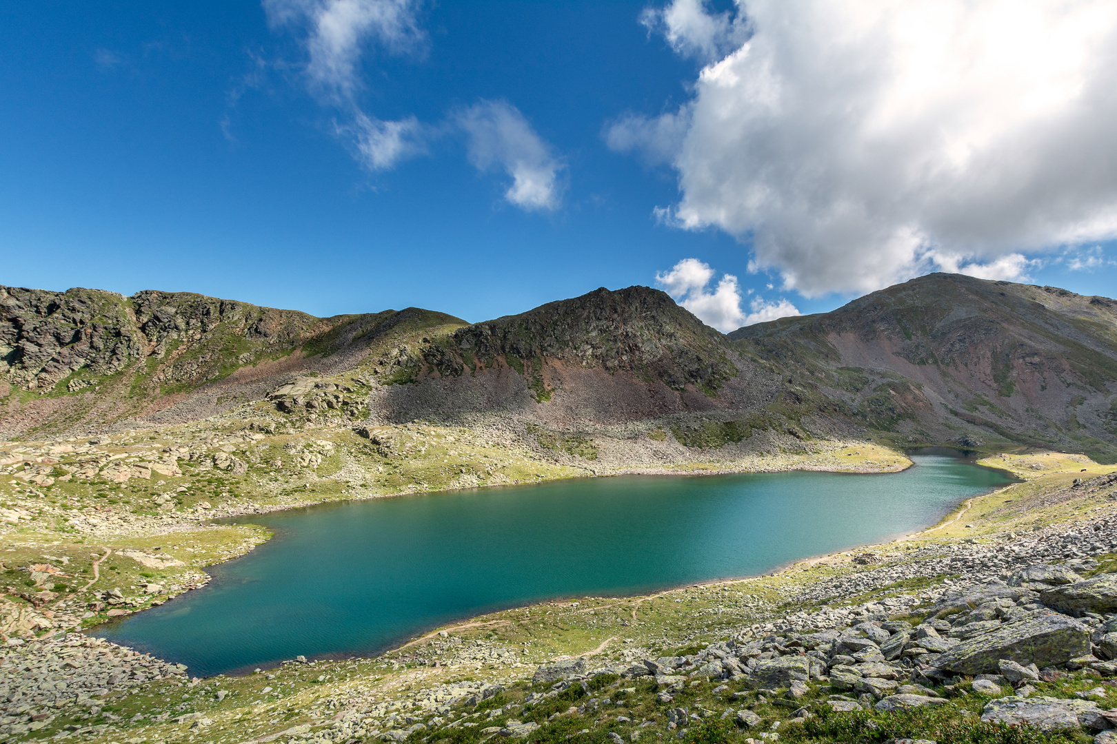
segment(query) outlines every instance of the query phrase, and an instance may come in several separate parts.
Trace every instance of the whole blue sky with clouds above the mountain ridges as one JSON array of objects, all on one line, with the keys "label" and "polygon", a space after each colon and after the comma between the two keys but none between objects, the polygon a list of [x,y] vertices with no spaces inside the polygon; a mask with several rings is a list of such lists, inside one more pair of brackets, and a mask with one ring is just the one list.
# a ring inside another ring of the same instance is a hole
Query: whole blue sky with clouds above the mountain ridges
[{"label": "whole blue sky with clouds above the mountain ridges", "polygon": [[[772,116],[756,124],[755,94],[724,84],[752,75],[731,69],[743,46],[793,48],[818,26],[802,3],[792,27],[805,30],[780,37],[765,4],[7,3],[0,283],[197,291],[319,316],[413,305],[470,321],[601,286],[658,284],[723,328],[781,308],[828,310],[944,268],[1114,294],[1111,135],[1068,124],[1048,143],[1086,138],[1099,172],[1080,167],[1073,183],[1047,172],[1043,203],[1073,209],[1027,230],[1018,224],[1042,210],[1025,196],[975,193],[967,204],[995,220],[925,196],[884,203],[881,184],[909,194],[956,184],[896,186],[868,161],[819,170],[818,183],[837,185],[804,187],[804,163],[825,166],[863,142]],[[1104,49],[1106,38],[1083,44]],[[879,109],[882,88],[867,85],[829,88]],[[1073,103],[1052,106],[1073,113]],[[973,107],[1011,119],[1012,104]],[[739,114],[710,125],[710,110]],[[1018,119],[1005,137],[1038,131]],[[892,126],[907,136],[915,124]],[[755,144],[772,132],[790,134]],[[758,189],[760,173],[798,175]],[[743,196],[757,192],[780,199]],[[850,199],[866,219],[818,218]],[[801,212],[787,207],[798,201]]]}]

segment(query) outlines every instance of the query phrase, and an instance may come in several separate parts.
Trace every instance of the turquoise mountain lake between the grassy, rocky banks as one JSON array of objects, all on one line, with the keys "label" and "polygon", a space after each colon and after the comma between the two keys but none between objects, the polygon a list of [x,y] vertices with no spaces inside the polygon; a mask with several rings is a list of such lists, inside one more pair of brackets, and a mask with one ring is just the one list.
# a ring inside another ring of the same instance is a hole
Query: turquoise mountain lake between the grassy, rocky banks
[{"label": "turquoise mountain lake between the grassy, rocky banks", "polygon": [[886,475],[619,476],[316,506],[213,581],[98,628],[208,676],[371,653],[542,599],[763,573],[936,522],[1008,483],[956,457]]}]

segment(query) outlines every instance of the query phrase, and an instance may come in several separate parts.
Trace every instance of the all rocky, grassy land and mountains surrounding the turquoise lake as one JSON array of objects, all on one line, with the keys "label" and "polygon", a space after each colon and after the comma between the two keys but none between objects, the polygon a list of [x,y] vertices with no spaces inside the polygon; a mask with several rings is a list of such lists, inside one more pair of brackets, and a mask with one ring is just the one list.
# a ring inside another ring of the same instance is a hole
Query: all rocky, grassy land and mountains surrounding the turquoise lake
[{"label": "all rocky, grassy land and mountains surrounding the turquoise lake", "polygon": [[[1117,742],[1115,308],[932,274],[726,336],[641,287],[479,323],[2,288],[0,741]],[[1016,482],[885,544],[367,657],[200,678],[96,634],[268,540],[250,514],[928,445]]]}]

